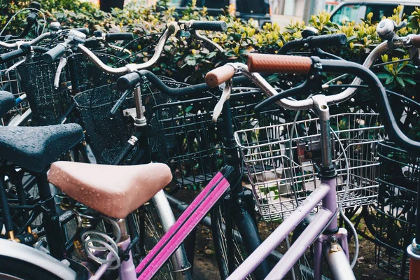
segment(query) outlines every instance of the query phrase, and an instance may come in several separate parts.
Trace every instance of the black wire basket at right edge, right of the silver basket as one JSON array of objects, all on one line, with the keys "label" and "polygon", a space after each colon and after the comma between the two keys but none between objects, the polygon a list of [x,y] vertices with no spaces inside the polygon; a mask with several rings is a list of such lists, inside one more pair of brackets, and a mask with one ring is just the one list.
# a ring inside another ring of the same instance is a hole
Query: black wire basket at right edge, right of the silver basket
[{"label": "black wire basket at right edge, right of the silver basket", "polygon": [[408,279],[407,246],[414,238],[420,158],[395,144],[379,143],[379,195],[376,216],[376,262],[390,274]]}]

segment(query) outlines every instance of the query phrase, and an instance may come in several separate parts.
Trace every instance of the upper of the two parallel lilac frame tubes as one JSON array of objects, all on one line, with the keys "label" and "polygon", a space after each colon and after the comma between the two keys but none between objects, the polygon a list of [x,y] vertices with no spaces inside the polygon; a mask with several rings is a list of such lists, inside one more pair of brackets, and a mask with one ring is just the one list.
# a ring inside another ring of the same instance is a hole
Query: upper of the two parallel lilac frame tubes
[{"label": "upper of the two parallel lilac frame tubes", "polygon": [[[228,279],[245,279],[253,270],[258,267],[258,265],[267,258],[267,255],[271,253],[276,246],[278,246],[281,241],[283,241],[290,232],[292,232],[297,225],[306,217],[313,209],[316,207],[316,205],[323,200],[323,197],[327,195],[330,192],[331,187],[325,183],[321,183],[318,188],[316,188],[307,198],[300,204],[295,211],[290,214],[286,220],[281,223],[274,232],[272,232],[267,239],[265,239],[264,242],[258,248],[251,253],[251,255],[244,260],[244,262],[235,269],[235,271],[230,274]],[[323,225],[325,226],[325,224]],[[318,236],[319,232],[314,232],[316,235],[314,237]],[[312,241],[314,240],[311,239]],[[300,255],[297,255],[297,258],[299,258]],[[283,258],[281,258],[283,260]]]}]

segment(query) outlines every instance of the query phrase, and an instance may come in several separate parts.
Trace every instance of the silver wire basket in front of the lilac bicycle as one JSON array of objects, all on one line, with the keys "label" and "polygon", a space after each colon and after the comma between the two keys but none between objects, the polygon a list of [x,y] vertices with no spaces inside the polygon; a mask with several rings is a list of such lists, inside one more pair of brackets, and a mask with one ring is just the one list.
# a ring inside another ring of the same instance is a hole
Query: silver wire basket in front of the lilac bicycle
[{"label": "silver wire basket in front of the lilac bicycle", "polygon": [[[343,207],[371,204],[377,200],[379,162],[377,143],[384,139],[379,116],[346,113],[330,117],[332,129],[344,146],[349,162],[349,182],[344,152],[331,134],[332,160],[337,169],[337,202]],[[292,136],[293,135],[293,136]],[[291,138],[291,141],[290,141]],[[283,125],[255,127],[235,132],[246,164],[248,179],[262,218],[283,219],[321,183],[318,118]]]}]

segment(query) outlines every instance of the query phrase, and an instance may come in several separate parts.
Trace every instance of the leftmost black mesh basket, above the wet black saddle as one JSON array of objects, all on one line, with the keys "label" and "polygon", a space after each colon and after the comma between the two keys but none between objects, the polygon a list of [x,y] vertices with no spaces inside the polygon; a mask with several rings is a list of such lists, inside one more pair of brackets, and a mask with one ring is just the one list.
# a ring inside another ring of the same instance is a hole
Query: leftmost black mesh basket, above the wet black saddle
[{"label": "leftmost black mesh basket, above the wet black saddle", "polygon": [[[108,55],[99,55],[106,62]],[[72,62],[69,62],[73,59]],[[109,81],[109,76],[99,71],[94,64],[83,55],[69,57],[59,78],[59,87],[55,89],[54,78],[59,62],[47,64],[39,60],[21,64],[18,72],[21,85],[27,93],[27,99],[32,111],[32,121],[36,125],[55,125],[59,123],[64,113],[72,104],[71,77],[69,64],[76,65],[77,81],[80,89],[94,85],[103,85]]]}]

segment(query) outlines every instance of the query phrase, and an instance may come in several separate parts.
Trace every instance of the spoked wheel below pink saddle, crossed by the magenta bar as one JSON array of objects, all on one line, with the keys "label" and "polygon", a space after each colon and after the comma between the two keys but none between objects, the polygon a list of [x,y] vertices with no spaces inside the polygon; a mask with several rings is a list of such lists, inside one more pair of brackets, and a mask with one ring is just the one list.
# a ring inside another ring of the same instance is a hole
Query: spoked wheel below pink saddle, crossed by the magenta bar
[{"label": "spoked wheel below pink saddle, crossed by the magenta bar", "polygon": [[[139,243],[134,246],[132,250],[134,264],[138,265],[158,243],[165,232],[163,230],[160,215],[158,214],[158,209],[156,209],[152,202],[146,202],[143,207],[137,209],[133,214],[130,214],[130,216],[127,217],[127,222],[132,239],[134,239],[134,237],[140,238]],[[189,272],[185,272],[186,275],[175,272],[178,269],[175,268],[176,265],[174,265],[174,263],[181,264],[183,262],[185,262],[185,260],[180,260],[179,255],[174,253],[153,279],[179,279],[180,276],[182,276],[182,279],[188,279]]]}]

